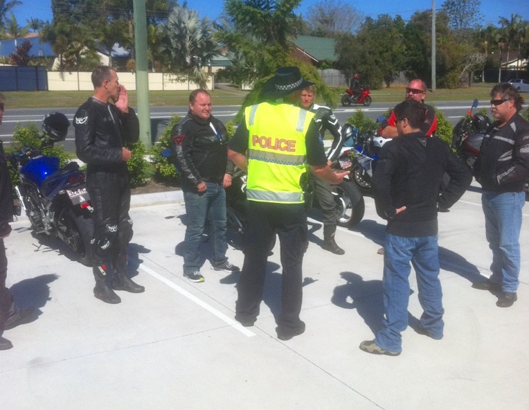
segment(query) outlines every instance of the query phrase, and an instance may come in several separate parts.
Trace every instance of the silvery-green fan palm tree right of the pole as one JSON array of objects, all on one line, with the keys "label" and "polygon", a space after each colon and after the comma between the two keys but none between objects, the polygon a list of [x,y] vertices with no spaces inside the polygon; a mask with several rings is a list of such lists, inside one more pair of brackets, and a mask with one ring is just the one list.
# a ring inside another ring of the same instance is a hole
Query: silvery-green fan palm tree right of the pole
[{"label": "silvery-green fan palm tree right of the pole", "polygon": [[209,19],[199,19],[198,12],[185,5],[175,6],[168,18],[166,35],[174,69],[190,74],[201,88],[206,88],[208,75],[202,67],[217,52]]}]

